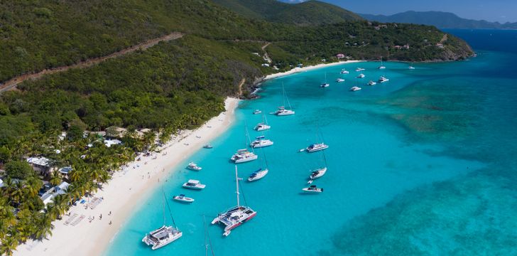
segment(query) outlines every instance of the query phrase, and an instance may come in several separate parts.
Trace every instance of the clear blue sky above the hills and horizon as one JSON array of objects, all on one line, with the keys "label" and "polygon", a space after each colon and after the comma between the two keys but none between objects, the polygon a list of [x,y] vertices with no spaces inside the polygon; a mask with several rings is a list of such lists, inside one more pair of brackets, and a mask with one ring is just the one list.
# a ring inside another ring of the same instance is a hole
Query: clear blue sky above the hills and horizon
[{"label": "clear blue sky above the hills and horizon", "polygon": [[[300,2],[305,0],[283,0]],[[517,0],[320,0],[358,14],[391,15],[403,11],[447,11],[462,18],[517,22]]]}]

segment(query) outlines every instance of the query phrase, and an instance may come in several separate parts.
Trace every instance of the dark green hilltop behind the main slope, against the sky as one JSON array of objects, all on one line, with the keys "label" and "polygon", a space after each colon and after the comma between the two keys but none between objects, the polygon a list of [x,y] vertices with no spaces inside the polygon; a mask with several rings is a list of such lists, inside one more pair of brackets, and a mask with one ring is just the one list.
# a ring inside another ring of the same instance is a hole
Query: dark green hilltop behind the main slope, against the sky
[{"label": "dark green hilltop behind the main slope, against the sky", "polygon": [[238,14],[266,21],[311,26],[362,21],[361,16],[321,1],[285,4],[277,0],[214,0]]}]

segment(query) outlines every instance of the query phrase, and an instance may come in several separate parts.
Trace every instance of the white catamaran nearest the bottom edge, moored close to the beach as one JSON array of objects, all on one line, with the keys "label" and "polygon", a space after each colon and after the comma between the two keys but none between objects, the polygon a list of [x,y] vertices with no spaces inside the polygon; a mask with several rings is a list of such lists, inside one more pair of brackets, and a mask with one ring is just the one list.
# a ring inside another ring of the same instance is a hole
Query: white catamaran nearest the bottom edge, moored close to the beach
[{"label": "white catamaran nearest the bottom edge, moored close to the beach", "polygon": [[[167,203],[167,201],[165,200],[165,193],[163,193],[163,201]],[[183,235],[183,232],[181,232],[176,226],[172,213],[170,213],[169,203],[167,203],[167,207],[169,209],[170,218],[173,220],[174,226],[165,225],[165,203],[163,203],[163,226],[161,228],[151,231],[151,233],[146,234],[146,236],[142,238],[142,242],[145,242],[146,245],[152,245],[151,248],[153,250],[168,245],[171,242],[178,240],[178,238],[181,238],[181,236]]]}]

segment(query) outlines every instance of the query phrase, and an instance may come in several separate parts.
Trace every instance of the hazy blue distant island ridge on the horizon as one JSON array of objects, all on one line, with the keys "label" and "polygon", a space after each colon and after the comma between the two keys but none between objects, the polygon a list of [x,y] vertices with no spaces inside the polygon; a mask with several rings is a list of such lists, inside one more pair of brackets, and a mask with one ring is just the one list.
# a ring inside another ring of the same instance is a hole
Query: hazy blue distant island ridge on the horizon
[{"label": "hazy blue distant island ridge on the horizon", "polygon": [[499,23],[490,21],[477,21],[467,18],[460,18],[456,14],[443,11],[405,11],[400,14],[373,15],[359,14],[369,21],[413,23],[437,28],[492,28],[492,29],[517,29],[516,23]]}]

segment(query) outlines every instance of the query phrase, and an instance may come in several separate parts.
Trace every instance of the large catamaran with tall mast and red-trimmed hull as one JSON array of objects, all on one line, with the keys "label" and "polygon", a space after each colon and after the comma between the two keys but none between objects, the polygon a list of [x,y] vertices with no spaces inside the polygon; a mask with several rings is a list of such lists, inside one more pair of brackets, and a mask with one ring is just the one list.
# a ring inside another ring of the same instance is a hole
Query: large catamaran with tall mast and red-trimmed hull
[{"label": "large catamaran with tall mast and red-trimmed hull", "polygon": [[228,236],[234,228],[239,227],[242,223],[256,216],[255,210],[249,206],[241,206],[239,203],[239,176],[237,175],[237,166],[235,166],[235,184],[237,188],[237,205],[224,213],[219,213],[219,215],[212,220],[212,224],[220,223],[224,225],[224,233],[222,234],[224,236]]}]

